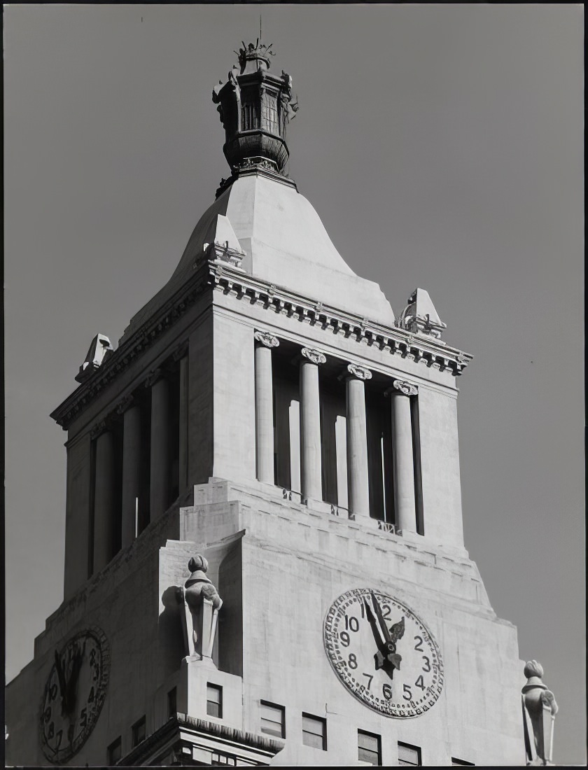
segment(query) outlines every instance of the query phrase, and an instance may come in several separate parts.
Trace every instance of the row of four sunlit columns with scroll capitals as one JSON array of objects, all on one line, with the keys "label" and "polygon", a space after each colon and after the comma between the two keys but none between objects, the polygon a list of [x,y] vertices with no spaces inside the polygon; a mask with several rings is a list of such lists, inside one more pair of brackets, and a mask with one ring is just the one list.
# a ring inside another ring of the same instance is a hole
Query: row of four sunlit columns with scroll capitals
[{"label": "row of four sunlit columns with scroll capitals", "polygon": [[[272,412],[272,350],[279,340],[256,331],[256,457],[257,477],[274,484],[274,431]],[[303,347],[299,356],[300,474],[302,497],[322,500],[322,454],[319,367],[326,356]],[[366,380],[372,373],[348,363],[346,381],[346,454],[349,514],[356,520],[369,517],[369,471],[366,424]],[[392,399],[393,473],[396,527],[416,532],[413,424],[410,397],[416,385],[393,380],[386,390]]]}]

